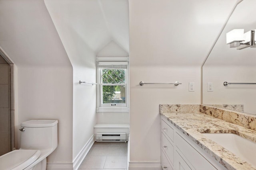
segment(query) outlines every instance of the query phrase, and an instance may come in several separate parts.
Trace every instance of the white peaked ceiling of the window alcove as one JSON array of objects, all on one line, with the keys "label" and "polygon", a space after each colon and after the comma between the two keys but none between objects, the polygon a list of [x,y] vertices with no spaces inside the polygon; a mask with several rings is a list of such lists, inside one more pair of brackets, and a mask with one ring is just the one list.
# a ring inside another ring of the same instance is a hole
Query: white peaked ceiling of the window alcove
[{"label": "white peaked ceiling of the window alcove", "polygon": [[[57,31],[69,27],[79,35],[88,48],[94,51],[95,55],[111,41],[129,53],[128,0],[44,0],[44,2]],[[60,35],[62,39],[61,36],[63,35]]]}]

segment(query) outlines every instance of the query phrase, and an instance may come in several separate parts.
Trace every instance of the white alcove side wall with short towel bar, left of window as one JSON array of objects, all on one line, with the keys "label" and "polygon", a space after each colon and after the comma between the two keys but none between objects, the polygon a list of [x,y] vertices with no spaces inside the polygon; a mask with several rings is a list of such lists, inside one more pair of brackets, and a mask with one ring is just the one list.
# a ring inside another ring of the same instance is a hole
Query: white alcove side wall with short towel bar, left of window
[{"label": "white alcove side wall with short towel bar, left of window", "polygon": [[[60,39],[66,49],[73,66],[73,161],[94,134],[96,124],[96,86],[79,84],[79,80],[96,82],[96,56],[82,37],[68,23],[72,18],[72,10],[60,13],[63,6],[45,0]],[[66,4],[62,4],[64,6]],[[65,9],[65,8],[64,8]],[[81,14],[82,15],[82,14]]]}]

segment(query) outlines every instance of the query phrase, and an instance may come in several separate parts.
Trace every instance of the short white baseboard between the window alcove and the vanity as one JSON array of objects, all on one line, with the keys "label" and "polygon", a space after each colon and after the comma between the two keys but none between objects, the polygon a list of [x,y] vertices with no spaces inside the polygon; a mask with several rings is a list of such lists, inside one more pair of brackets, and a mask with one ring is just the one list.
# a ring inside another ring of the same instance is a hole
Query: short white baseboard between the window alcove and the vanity
[{"label": "short white baseboard between the window alcove and the vanity", "polygon": [[129,170],[162,170],[161,162],[129,162]]}]

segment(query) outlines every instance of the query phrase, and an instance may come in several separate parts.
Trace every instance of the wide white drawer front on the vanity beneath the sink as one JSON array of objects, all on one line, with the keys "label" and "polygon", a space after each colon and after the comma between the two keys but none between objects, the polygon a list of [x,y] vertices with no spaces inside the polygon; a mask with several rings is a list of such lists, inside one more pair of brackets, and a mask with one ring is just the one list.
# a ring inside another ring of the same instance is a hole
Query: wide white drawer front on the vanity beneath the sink
[{"label": "wide white drawer front on the vanity beneath the sink", "polygon": [[192,164],[196,170],[217,170],[178,133],[175,133],[175,143],[178,149],[180,149],[182,154],[185,155],[186,159],[189,160],[190,164]]}]

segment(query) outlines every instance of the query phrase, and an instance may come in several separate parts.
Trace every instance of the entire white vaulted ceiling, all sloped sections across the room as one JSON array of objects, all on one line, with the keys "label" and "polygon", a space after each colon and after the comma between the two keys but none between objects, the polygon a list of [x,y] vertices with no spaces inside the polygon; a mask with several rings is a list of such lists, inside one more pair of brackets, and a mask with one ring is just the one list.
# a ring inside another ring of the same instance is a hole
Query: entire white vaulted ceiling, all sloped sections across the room
[{"label": "entire white vaulted ceiling, all sloped sections across the room", "polygon": [[116,43],[138,65],[201,65],[235,2],[0,0],[0,46],[16,64],[66,63],[47,57],[63,50],[57,30],[69,58],[103,55]]}]

